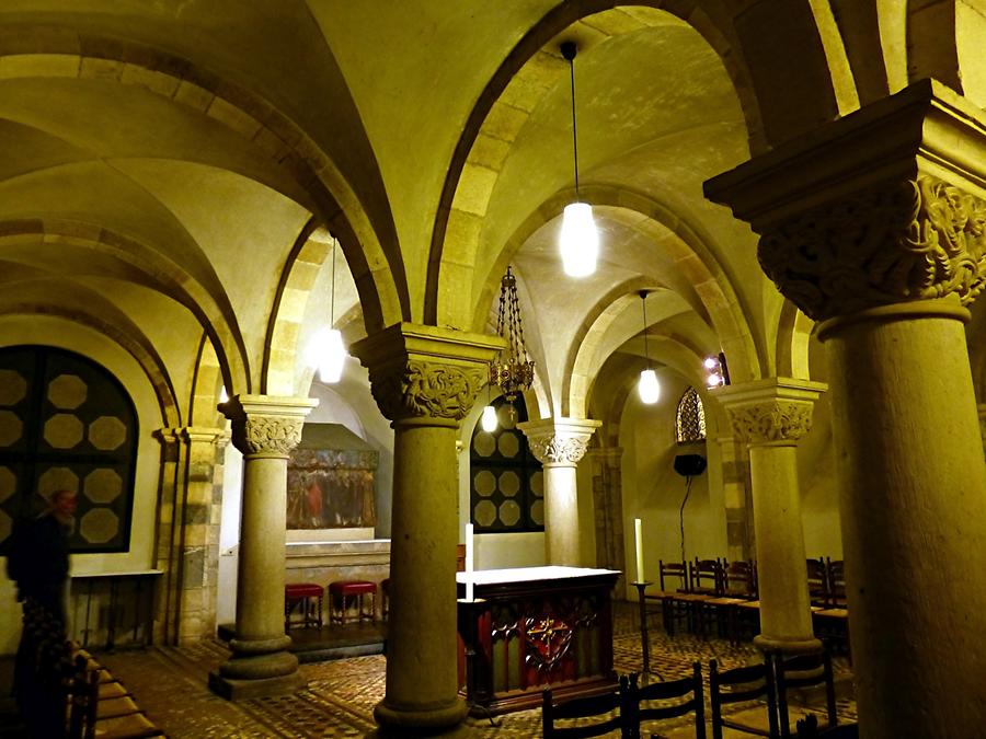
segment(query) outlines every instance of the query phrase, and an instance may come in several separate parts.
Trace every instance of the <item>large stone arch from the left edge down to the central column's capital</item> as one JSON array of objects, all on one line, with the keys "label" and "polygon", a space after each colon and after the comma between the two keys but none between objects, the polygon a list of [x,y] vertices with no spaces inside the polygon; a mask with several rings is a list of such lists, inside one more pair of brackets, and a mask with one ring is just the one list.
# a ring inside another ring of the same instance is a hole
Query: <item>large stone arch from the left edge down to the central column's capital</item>
[{"label": "large stone arch from the left edge down to the central column's capital", "polygon": [[96,35],[87,35],[83,43],[74,30],[33,31],[0,37],[4,79],[98,79],[138,85],[225,126],[290,174],[299,189],[285,195],[333,223],[359,290],[367,330],[410,320],[406,276],[392,221],[372,222],[345,175],[287,115],[236,82],[158,48]]}]

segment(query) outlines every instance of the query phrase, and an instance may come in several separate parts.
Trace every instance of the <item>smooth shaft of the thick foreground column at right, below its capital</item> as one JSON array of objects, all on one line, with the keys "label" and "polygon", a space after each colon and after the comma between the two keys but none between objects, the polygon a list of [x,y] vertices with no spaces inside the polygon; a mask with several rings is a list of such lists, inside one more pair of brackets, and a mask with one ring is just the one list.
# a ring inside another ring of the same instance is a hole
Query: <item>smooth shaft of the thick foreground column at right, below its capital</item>
[{"label": "smooth shaft of the thick foreground column at right, below its capital", "polygon": [[956,302],[823,326],[867,737],[986,725],[986,464]]}]

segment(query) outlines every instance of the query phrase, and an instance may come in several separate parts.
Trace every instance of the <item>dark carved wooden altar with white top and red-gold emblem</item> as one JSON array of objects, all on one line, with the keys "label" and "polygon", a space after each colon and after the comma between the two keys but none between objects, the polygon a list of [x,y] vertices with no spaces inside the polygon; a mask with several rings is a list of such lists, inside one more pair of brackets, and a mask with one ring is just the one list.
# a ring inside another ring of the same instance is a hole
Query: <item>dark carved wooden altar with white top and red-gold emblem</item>
[{"label": "dark carved wooden altar with white top and red-gold emblem", "polygon": [[[525,567],[473,574],[475,601],[459,601],[460,685],[470,706],[493,713],[609,690],[612,600],[618,571]],[[466,594],[459,573],[459,598]]]}]

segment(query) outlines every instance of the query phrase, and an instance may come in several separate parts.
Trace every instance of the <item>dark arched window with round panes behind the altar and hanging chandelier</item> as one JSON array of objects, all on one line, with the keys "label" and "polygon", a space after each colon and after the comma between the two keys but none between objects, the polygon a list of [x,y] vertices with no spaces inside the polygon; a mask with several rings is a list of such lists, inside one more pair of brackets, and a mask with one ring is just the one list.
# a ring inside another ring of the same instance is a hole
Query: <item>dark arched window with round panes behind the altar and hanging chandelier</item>
[{"label": "dark arched window with round panes behind the altar and hanging chandelier", "polygon": [[520,396],[514,400],[513,412],[503,397],[492,405],[496,408],[496,429],[484,431],[477,422],[469,447],[469,518],[478,533],[543,531],[541,463],[517,428],[518,423],[527,420],[527,406]]}]

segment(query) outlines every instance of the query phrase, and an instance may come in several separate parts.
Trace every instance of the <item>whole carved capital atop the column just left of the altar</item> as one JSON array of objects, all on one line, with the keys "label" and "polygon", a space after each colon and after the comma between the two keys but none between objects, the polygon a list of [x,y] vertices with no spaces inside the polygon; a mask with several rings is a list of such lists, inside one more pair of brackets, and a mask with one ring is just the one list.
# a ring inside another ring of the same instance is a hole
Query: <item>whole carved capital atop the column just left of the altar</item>
[{"label": "whole carved capital atop the column just left of the altar", "polygon": [[394,423],[456,426],[486,383],[500,338],[401,323],[351,347],[369,369],[380,412]]}]

